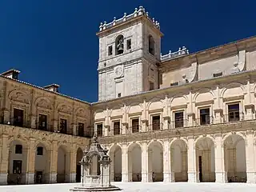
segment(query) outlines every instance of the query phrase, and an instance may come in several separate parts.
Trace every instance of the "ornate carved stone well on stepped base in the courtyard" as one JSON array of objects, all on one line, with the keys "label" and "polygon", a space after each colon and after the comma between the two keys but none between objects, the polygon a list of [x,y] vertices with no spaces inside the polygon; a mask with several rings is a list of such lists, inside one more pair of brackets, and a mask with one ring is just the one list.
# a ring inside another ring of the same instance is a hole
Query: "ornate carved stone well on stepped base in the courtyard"
[{"label": "ornate carved stone well on stepped base in the courtyard", "polygon": [[[117,186],[110,185],[110,157],[106,154],[108,150],[103,149],[98,143],[97,136],[94,135],[93,142],[89,150],[85,150],[81,160],[81,186],[76,186],[70,191],[114,191],[121,190]],[[98,156],[100,165],[100,174],[91,175],[90,166],[92,158]]]}]

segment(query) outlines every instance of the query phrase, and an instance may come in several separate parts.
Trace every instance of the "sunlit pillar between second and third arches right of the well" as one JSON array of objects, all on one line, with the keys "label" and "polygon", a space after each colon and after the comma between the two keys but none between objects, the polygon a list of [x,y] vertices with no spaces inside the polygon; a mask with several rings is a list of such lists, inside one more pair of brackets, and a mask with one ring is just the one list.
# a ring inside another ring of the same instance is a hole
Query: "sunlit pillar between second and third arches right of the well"
[{"label": "sunlit pillar between second and third arches right of the well", "polygon": [[142,182],[149,182],[148,168],[147,144],[146,142],[142,142]]}]

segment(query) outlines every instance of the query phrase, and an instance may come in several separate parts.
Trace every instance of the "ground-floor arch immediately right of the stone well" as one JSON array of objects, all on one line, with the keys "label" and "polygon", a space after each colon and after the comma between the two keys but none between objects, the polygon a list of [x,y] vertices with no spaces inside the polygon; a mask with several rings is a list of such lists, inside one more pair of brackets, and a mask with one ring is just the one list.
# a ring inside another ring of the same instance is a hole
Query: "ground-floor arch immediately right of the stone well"
[{"label": "ground-floor arch immediately right of the stone well", "polygon": [[110,148],[110,174],[111,181],[121,182],[122,181],[122,149],[118,145],[114,145]]}]

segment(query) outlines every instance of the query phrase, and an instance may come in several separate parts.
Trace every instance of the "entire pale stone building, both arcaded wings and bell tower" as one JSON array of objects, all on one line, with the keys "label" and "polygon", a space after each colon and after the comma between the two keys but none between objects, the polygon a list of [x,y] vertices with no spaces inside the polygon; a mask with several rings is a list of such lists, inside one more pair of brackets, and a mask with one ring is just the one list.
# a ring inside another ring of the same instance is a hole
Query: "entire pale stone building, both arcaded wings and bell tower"
[{"label": "entire pale stone building, both arcaded wings and bell tower", "polygon": [[98,37],[98,102],[1,75],[2,184],[74,182],[94,133],[112,181],[256,183],[256,38],[162,55],[143,7]]}]

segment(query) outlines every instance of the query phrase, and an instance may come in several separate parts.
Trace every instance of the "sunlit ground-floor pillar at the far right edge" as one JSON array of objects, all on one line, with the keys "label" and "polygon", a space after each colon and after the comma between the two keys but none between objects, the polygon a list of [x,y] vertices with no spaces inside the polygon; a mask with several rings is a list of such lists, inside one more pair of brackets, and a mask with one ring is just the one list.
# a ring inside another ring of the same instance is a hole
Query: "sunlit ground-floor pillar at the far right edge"
[{"label": "sunlit ground-floor pillar at the far right edge", "polygon": [[254,132],[246,132],[246,176],[248,183],[256,183],[256,167],[254,165]]}]

